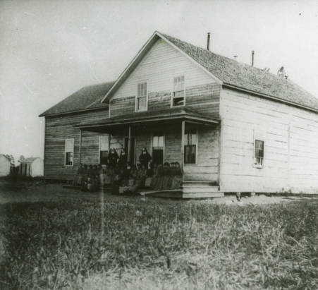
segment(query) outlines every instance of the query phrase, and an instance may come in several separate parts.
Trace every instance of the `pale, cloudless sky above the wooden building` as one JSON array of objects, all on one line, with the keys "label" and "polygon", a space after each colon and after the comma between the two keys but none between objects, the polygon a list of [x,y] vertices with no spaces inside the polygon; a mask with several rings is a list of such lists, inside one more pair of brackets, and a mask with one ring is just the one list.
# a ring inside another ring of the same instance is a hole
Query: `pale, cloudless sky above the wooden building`
[{"label": "pale, cloudless sky above the wooden building", "polygon": [[0,1],[0,153],[43,157],[49,107],[116,80],[152,33],[277,73],[318,97],[318,1]]}]

